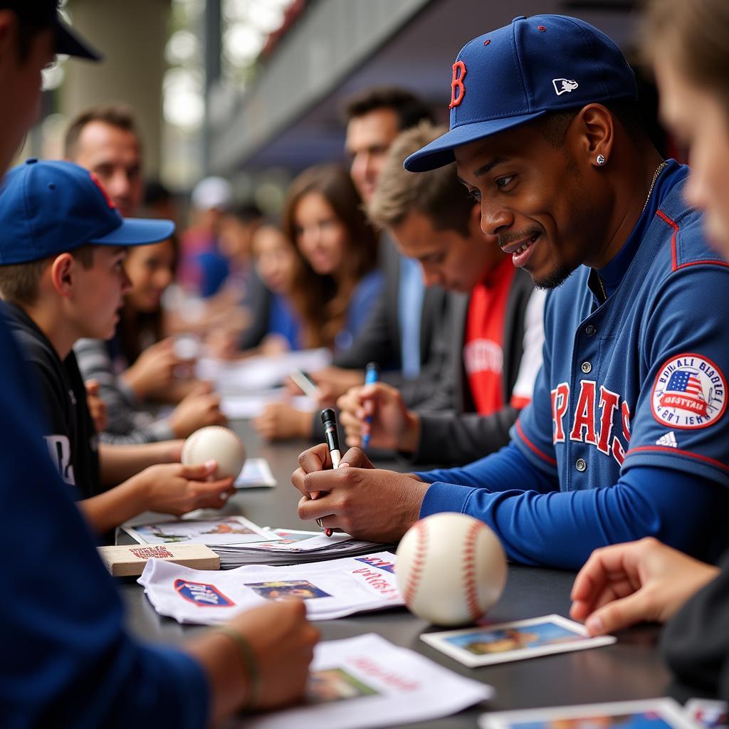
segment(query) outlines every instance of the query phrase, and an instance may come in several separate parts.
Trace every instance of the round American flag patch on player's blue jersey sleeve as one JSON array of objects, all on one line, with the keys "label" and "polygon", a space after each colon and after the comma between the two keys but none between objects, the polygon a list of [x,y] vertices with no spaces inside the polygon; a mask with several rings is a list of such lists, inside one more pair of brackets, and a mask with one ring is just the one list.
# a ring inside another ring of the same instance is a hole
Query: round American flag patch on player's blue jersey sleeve
[{"label": "round American flag patch on player's blue jersey sleeve", "polygon": [[711,359],[679,354],[660,368],[653,386],[655,419],[670,428],[705,428],[726,409],[726,378]]}]

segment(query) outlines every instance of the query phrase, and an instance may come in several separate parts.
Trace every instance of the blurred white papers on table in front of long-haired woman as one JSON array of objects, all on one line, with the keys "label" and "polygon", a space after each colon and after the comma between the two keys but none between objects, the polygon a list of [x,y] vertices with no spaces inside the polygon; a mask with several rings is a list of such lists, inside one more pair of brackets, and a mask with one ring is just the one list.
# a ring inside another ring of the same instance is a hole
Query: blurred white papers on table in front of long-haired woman
[{"label": "blurred white papers on table in front of long-haired woman", "polygon": [[201,357],[196,375],[201,380],[212,380],[223,392],[258,393],[280,385],[293,370],[316,372],[331,362],[332,353],[327,348],[253,356],[236,362]]}]

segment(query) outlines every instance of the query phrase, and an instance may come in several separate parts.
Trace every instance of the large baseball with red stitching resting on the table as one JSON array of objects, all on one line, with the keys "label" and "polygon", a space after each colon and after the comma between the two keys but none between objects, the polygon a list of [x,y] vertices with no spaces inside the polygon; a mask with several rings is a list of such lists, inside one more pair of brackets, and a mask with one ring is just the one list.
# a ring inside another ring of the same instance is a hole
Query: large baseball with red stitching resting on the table
[{"label": "large baseball with red stitching resting on the table", "polygon": [[410,612],[435,625],[466,625],[486,614],[506,582],[498,537],[465,514],[433,514],[397,547],[395,577]]}]

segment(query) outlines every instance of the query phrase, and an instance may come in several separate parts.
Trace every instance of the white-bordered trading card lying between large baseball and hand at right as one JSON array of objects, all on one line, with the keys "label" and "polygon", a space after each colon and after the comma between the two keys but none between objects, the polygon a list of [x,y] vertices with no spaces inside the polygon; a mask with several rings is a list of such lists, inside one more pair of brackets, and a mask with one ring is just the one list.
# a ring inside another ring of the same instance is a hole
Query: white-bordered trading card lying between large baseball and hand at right
[{"label": "white-bordered trading card lying between large baseball and hand at right", "polygon": [[583,625],[561,615],[545,615],[498,625],[477,625],[426,633],[424,642],[466,666],[488,666],[538,655],[585,650],[615,643],[615,636],[590,638]]}]

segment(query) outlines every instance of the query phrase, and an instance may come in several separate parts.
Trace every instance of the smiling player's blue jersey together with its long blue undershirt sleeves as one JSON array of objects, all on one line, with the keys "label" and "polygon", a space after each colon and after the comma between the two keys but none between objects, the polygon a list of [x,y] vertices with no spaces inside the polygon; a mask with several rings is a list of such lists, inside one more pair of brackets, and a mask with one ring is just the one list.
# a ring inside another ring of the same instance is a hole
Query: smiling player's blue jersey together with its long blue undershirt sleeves
[{"label": "smiling player's blue jersey together with its long blue undershirt sleeves", "polygon": [[419,474],[432,483],[421,516],[475,515],[530,564],[574,568],[648,534],[703,558],[729,546],[712,521],[729,512],[729,266],[683,199],[686,177],[668,163],[600,272],[607,300],[586,266],[550,292],[542,370],[512,443]]}]

